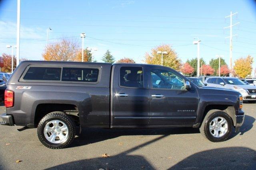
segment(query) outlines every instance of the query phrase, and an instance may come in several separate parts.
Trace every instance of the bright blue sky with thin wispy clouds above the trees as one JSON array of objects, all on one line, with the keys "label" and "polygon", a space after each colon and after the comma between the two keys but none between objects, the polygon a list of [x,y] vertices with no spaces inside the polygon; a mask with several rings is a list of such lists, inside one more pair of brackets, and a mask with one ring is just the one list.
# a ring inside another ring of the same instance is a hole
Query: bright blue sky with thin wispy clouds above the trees
[{"label": "bright blue sky with thin wispy clouds above the trees", "polygon": [[[16,44],[16,0],[0,1],[0,53]],[[208,63],[217,54],[229,64],[229,26],[225,16],[238,12],[233,23],[233,58],[250,54],[256,65],[256,8],[250,0],[21,0],[20,57],[41,60],[49,43],[72,37],[85,46],[96,47],[97,61],[107,49],[116,60],[130,57],[142,63],[143,56],[161,44],[173,46],[182,61],[196,57],[198,37],[201,57]],[[14,53],[15,54],[15,53]],[[234,61],[233,60],[233,61]]]}]

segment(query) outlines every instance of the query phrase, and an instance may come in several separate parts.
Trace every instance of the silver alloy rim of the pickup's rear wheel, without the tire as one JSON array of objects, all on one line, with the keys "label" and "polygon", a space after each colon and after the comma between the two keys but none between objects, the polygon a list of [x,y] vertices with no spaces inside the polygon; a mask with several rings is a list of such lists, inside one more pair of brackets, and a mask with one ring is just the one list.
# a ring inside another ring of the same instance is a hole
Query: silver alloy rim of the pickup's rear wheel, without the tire
[{"label": "silver alloy rim of the pickup's rear wheel, without the tire", "polygon": [[68,126],[60,120],[49,121],[44,127],[44,137],[50,143],[62,143],[68,138]]}]

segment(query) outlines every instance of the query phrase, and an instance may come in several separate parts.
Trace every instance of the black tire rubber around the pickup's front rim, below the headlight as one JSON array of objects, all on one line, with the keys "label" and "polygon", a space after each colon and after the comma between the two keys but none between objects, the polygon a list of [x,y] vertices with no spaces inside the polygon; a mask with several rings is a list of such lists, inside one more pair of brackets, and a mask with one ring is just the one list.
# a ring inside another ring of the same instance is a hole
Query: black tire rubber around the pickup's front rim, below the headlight
[{"label": "black tire rubber around the pickup's front rim, below the headlight", "polygon": [[[228,123],[227,131],[222,137],[214,137],[210,132],[210,123],[216,117],[223,117],[224,119],[226,119]],[[233,121],[232,121],[232,118],[227,113],[225,113],[224,111],[214,111],[214,112],[209,111],[204,117],[204,120],[199,130],[202,136],[208,139],[209,141],[222,142],[222,141],[226,141],[230,137],[232,133],[232,128],[233,128]]]}]

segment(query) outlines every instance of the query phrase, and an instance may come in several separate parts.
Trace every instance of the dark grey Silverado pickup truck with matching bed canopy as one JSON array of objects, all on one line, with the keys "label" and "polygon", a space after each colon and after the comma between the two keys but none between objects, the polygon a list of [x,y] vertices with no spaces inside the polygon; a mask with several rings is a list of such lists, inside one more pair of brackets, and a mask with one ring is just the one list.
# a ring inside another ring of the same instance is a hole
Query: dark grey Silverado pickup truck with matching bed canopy
[{"label": "dark grey Silverado pickup truck with matching bed canopy", "polygon": [[244,122],[239,92],[197,86],[158,65],[23,61],[7,82],[2,125],[36,128],[43,145],[72,143],[76,127],[194,127],[212,142]]}]

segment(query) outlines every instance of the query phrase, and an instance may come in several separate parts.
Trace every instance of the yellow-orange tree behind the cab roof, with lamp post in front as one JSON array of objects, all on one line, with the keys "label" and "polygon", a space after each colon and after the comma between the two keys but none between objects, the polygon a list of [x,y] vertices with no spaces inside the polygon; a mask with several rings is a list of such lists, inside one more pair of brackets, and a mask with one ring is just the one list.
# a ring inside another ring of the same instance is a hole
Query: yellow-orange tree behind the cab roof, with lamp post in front
[{"label": "yellow-orange tree behind the cab roof, with lamp post in front", "polygon": [[147,64],[158,64],[161,65],[162,57],[157,51],[166,51],[167,54],[163,55],[163,65],[180,70],[181,60],[178,58],[177,53],[172,49],[170,45],[160,45],[154,49],[151,49],[151,54],[146,53],[144,62]]}]

